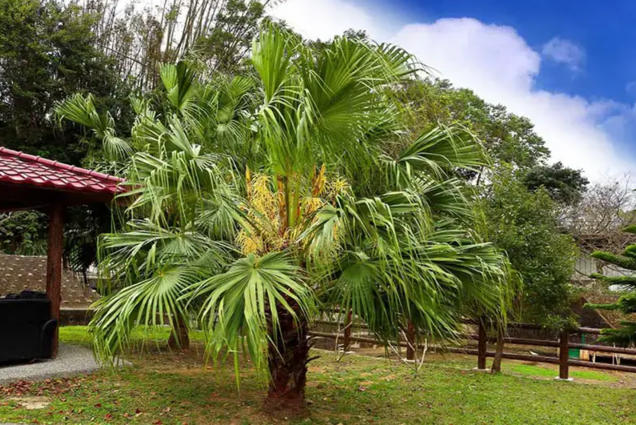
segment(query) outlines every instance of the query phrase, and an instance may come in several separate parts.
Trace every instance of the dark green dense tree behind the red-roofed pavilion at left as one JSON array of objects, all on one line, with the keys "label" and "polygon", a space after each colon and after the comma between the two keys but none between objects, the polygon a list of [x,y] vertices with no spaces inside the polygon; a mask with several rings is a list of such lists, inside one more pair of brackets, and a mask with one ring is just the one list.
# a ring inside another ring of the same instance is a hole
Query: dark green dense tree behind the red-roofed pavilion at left
[{"label": "dark green dense tree behind the red-roofed pavilion at left", "polygon": [[[90,91],[100,110],[130,128],[130,90],[113,61],[95,45],[97,17],[76,4],[7,0],[0,3],[0,140],[4,147],[85,165],[97,149],[78,128],[56,128],[55,106]],[[38,212],[0,214],[0,250],[46,252],[46,219]]]}]

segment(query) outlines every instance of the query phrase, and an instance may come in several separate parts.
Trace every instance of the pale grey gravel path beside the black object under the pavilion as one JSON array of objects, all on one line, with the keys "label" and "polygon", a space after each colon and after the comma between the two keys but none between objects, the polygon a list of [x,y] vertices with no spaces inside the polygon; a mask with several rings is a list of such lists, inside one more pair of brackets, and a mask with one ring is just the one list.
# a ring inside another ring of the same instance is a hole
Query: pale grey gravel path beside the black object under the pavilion
[{"label": "pale grey gravel path beside the black object under the pavilion", "polygon": [[[0,385],[13,381],[42,381],[47,378],[88,374],[99,369],[90,349],[60,344],[57,358],[28,365],[0,366]],[[0,425],[4,425],[1,424]]]}]

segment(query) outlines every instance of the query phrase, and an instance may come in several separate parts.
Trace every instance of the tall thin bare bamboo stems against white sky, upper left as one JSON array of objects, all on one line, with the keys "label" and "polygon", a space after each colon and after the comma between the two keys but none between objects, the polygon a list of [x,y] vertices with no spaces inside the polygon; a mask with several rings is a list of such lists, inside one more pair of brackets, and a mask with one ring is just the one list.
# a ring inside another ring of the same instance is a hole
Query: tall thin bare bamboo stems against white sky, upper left
[{"label": "tall thin bare bamboo stems against white sky, upper left", "polygon": [[120,76],[140,90],[158,86],[162,64],[196,57],[208,72],[235,74],[270,0],[165,0],[160,6],[93,0],[86,13],[100,19],[92,29],[99,48]]}]

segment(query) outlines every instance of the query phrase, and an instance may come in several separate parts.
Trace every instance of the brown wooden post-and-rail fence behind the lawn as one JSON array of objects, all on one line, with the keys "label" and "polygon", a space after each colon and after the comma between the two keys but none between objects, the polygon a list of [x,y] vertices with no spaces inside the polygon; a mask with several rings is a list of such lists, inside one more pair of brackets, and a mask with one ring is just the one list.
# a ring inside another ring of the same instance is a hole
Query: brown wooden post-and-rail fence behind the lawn
[{"label": "brown wooden post-and-rail fence behind the lawn", "polygon": [[[315,323],[319,325],[331,325],[336,326],[340,330],[343,331],[342,334],[331,333],[331,332],[319,332],[312,331],[310,335],[315,337],[324,337],[331,339],[342,339],[342,346],[345,351],[349,350],[352,342],[366,342],[369,344],[378,344],[381,345],[382,342],[377,341],[377,339],[371,337],[359,337],[352,335],[352,328],[360,328],[366,329],[366,325],[364,323],[355,323],[352,321],[351,314],[347,314],[347,319],[345,322],[342,321],[331,321],[331,320],[316,320]],[[494,357],[494,351],[488,351],[488,342],[495,342],[497,339],[495,337],[488,337],[488,332],[483,323],[476,323],[474,321],[466,321],[466,323],[476,325],[478,327],[478,333],[476,335],[463,335],[463,339],[474,340],[477,341],[477,348],[472,347],[439,347],[444,349],[450,353],[460,353],[460,354],[472,354],[477,356],[477,368],[480,370],[486,370],[486,359],[488,357]],[[509,328],[516,329],[530,329],[530,330],[544,330],[539,325],[532,325],[529,323],[509,323]],[[595,344],[577,344],[570,342],[570,335],[576,334],[591,334],[591,335],[600,335],[600,329],[596,328],[586,328],[580,327],[576,328],[572,332],[561,332],[558,335],[558,339],[528,339],[528,338],[516,338],[516,337],[504,337],[504,347],[505,344],[510,345],[521,345],[521,346],[535,346],[535,347],[556,347],[558,348],[558,356],[544,356],[544,355],[534,355],[534,354],[522,354],[522,353],[504,353],[502,354],[502,358],[505,359],[513,359],[513,360],[525,360],[525,361],[536,361],[538,363],[552,363],[559,365],[559,379],[569,379],[569,367],[570,366],[578,366],[578,367],[587,367],[593,369],[600,370],[616,370],[619,372],[636,372],[636,367],[627,366],[627,365],[614,365],[607,363],[596,363],[593,361],[586,360],[574,360],[569,357],[569,349],[583,349],[588,350],[592,353],[612,353],[612,354],[627,354],[636,356],[636,349],[633,348],[621,348],[621,347],[611,347],[611,346],[602,346]],[[407,358],[409,360],[413,360],[415,358],[415,342],[408,341],[409,337],[412,339],[412,333],[406,332],[406,338],[404,341],[396,341],[394,344],[396,346],[406,347],[407,348]],[[429,346],[433,347],[433,346]],[[434,346],[438,347],[438,346]],[[417,349],[422,349],[424,346],[417,346]]]}]

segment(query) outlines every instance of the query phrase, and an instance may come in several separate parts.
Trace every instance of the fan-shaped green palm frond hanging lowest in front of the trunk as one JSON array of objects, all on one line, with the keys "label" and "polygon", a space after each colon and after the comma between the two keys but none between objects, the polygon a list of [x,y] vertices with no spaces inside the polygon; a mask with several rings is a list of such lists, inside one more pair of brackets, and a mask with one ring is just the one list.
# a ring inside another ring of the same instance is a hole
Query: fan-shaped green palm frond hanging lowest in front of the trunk
[{"label": "fan-shaped green palm frond hanging lowest in front of the trunk", "polygon": [[286,312],[298,320],[297,314],[311,318],[315,313],[312,290],[284,252],[236,260],[226,273],[190,285],[182,299],[203,299],[200,322],[209,354],[216,358],[228,349],[238,356],[245,347],[259,370],[268,341],[279,337],[279,315]]}]

